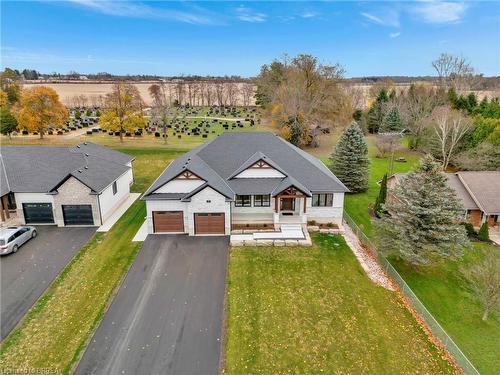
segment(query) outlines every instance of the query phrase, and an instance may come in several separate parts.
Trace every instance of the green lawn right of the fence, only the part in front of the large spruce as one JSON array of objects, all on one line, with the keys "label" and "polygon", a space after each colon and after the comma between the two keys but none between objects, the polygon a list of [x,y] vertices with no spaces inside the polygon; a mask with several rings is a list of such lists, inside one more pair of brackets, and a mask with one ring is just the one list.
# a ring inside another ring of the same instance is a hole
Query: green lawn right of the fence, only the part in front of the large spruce
[{"label": "green lawn right of the fence, only the part in front of the large spruce", "polygon": [[500,248],[474,242],[461,261],[445,262],[420,273],[402,262],[392,263],[478,371],[494,375],[500,369],[500,311],[491,313],[483,322],[482,308],[459,271],[487,251],[500,256]]}]

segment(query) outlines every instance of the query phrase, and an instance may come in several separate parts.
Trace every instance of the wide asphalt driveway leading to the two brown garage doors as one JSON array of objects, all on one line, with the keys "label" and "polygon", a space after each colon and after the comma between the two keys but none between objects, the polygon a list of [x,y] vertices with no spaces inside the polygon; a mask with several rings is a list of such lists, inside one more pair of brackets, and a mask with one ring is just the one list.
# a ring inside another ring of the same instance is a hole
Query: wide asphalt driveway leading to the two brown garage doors
[{"label": "wide asphalt driveway leading to the two brown garage doors", "polygon": [[76,374],[218,374],[228,246],[148,236]]}]

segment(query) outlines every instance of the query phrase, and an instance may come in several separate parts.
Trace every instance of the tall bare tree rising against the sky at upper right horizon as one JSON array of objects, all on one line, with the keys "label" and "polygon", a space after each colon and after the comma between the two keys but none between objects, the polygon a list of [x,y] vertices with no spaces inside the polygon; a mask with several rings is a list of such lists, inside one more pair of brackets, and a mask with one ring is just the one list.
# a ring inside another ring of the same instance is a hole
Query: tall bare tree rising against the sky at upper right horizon
[{"label": "tall bare tree rising against the sky at upper right horizon", "polygon": [[432,67],[438,74],[440,85],[447,89],[453,88],[459,92],[470,90],[481,80],[481,75],[462,56],[442,53],[432,62]]}]

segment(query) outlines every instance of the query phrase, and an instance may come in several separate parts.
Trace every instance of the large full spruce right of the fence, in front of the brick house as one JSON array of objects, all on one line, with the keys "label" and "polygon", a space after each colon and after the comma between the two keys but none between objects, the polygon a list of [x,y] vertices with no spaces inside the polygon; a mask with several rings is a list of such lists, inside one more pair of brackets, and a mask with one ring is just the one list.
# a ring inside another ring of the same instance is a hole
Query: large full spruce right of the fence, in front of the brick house
[{"label": "large full spruce right of the fence, in front of the brick house", "polygon": [[414,267],[462,256],[469,244],[460,224],[464,208],[432,156],[425,156],[391,195],[386,205],[389,215],[375,223],[377,241],[386,255],[396,255]]}]

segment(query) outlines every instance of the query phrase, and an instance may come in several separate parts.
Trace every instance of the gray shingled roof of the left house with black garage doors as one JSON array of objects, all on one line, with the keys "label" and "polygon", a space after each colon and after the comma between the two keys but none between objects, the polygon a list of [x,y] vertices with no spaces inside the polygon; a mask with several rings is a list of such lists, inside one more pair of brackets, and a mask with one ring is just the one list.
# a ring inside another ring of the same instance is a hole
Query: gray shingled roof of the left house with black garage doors
[{"label": "gray shingled roof of the left house with black garage doors", "polygon": [[[78,147],[2,147],[1,159],[8,191],[47,193],[69,176],[100,192],[130,169],[129,155],[87,143]],[[1,177],[1,175],[0,175]],[[4,183],[2,182],[2,195]]]}]

